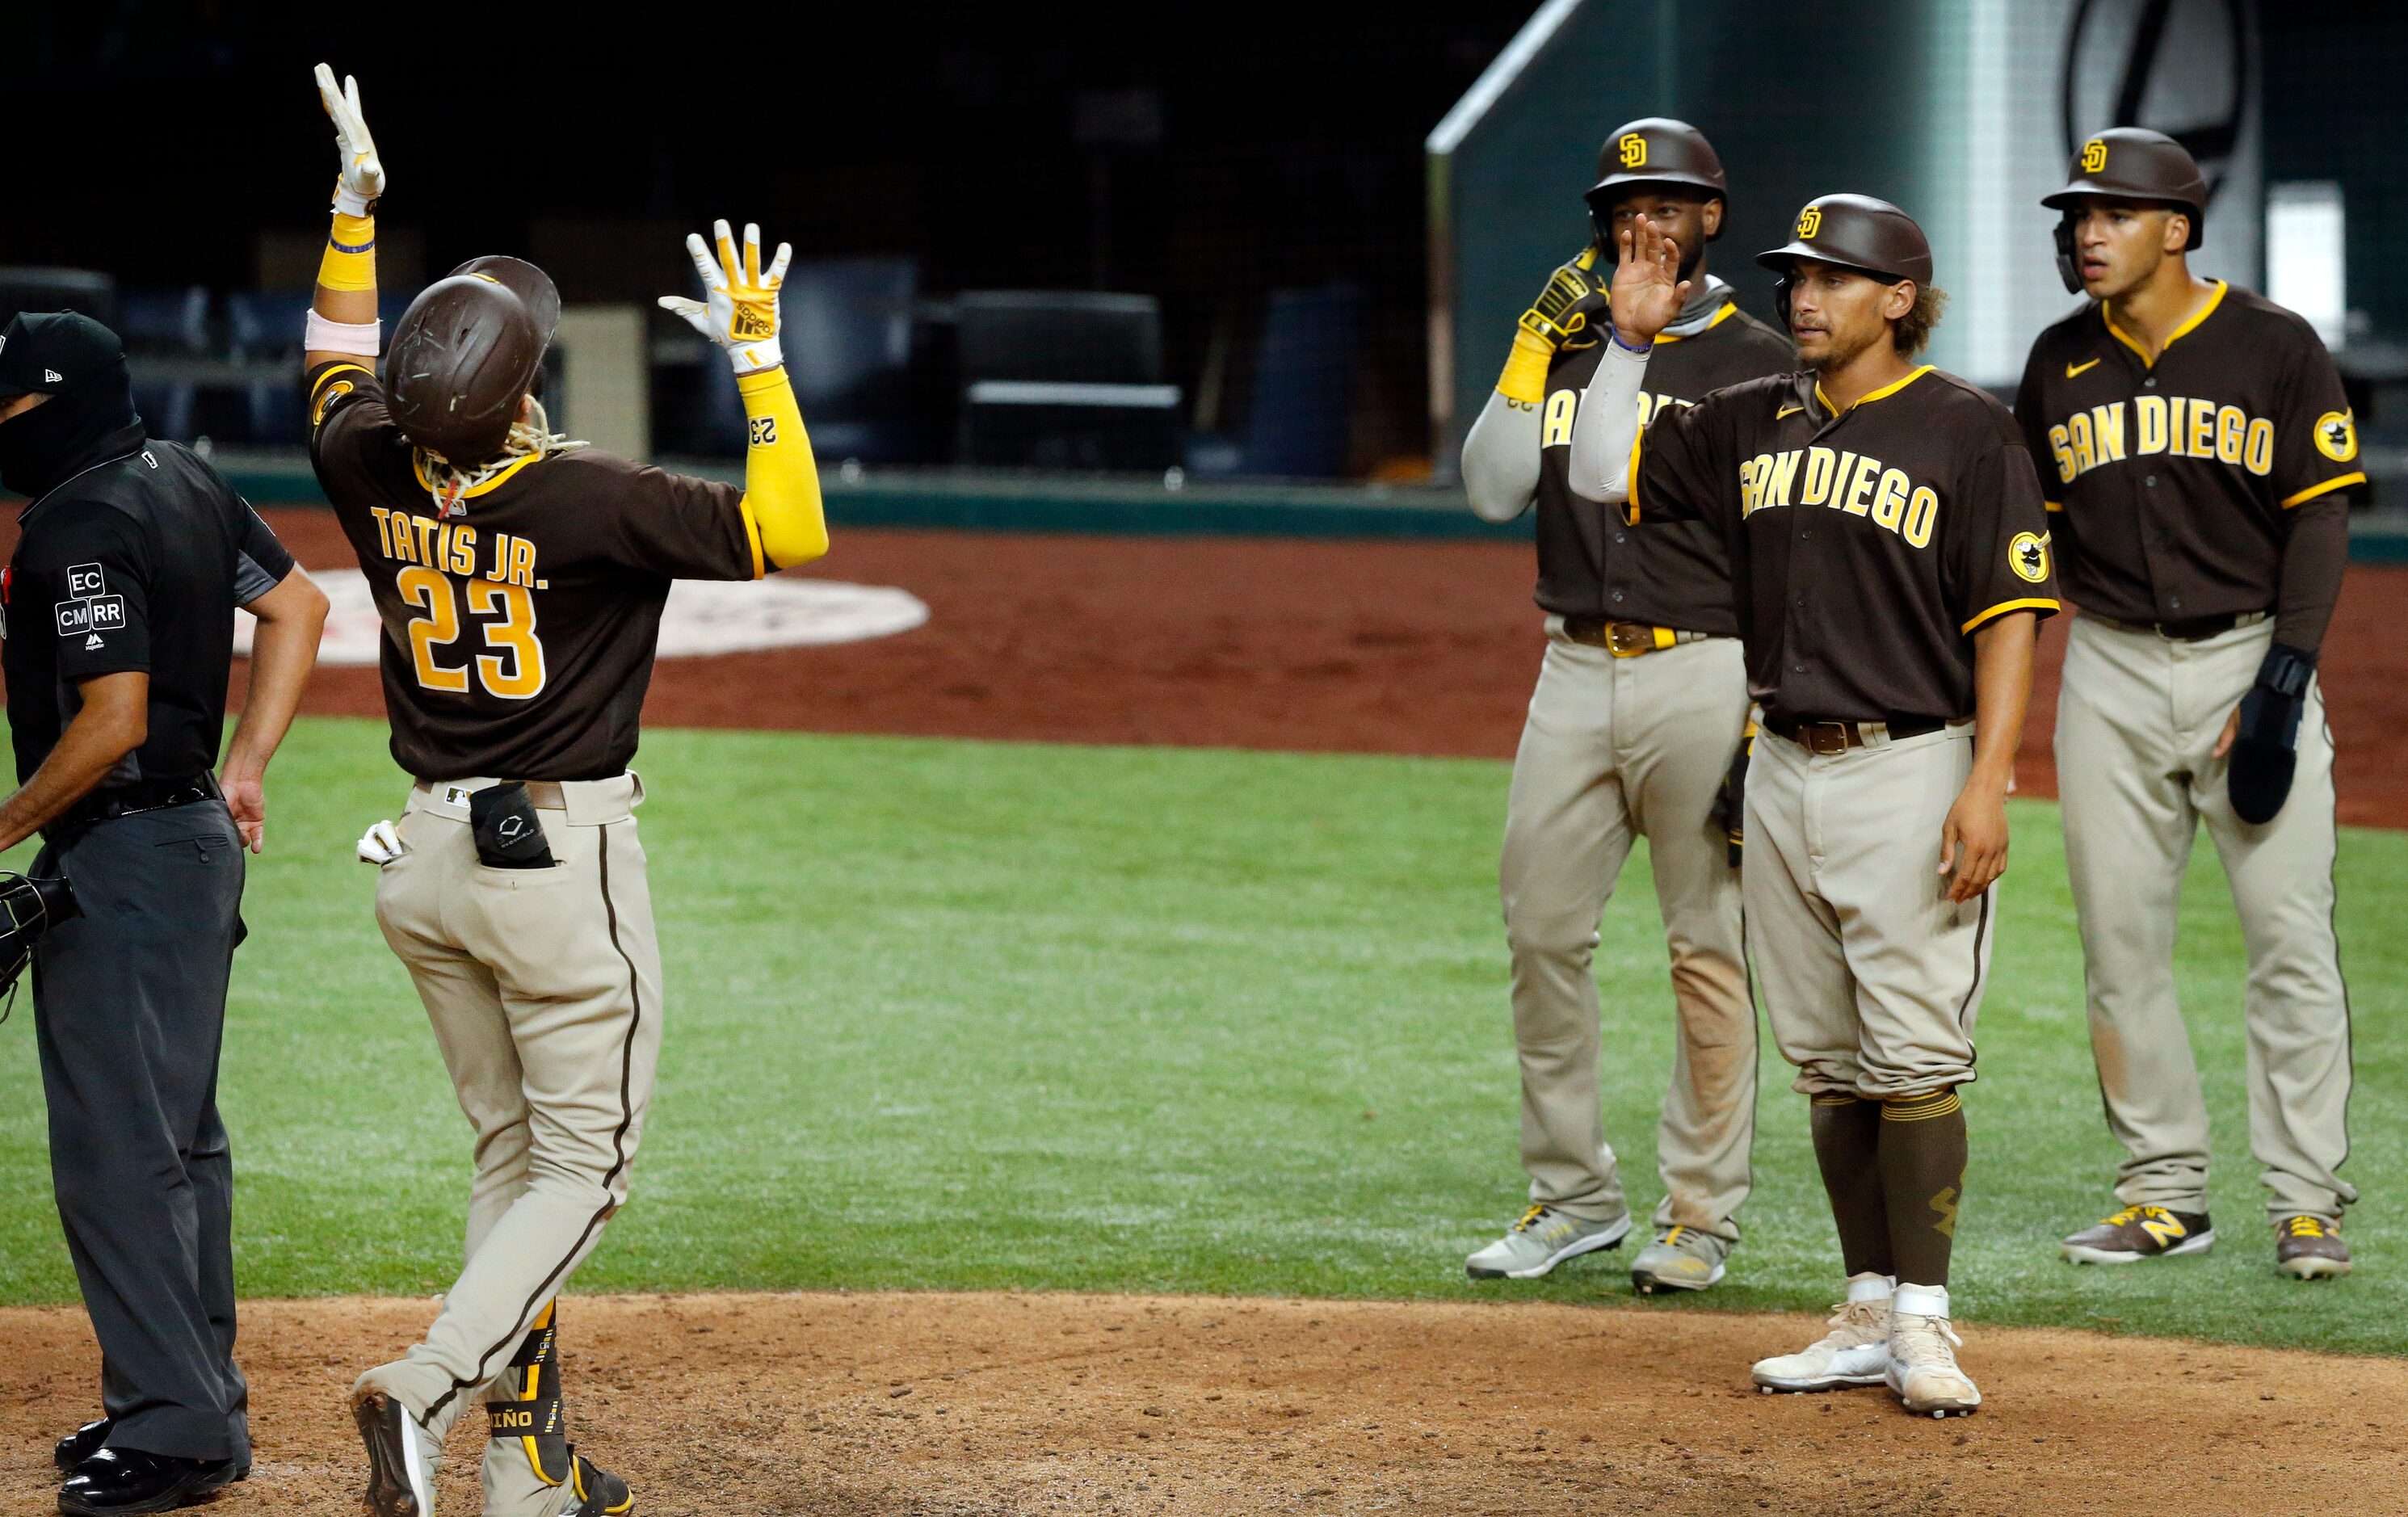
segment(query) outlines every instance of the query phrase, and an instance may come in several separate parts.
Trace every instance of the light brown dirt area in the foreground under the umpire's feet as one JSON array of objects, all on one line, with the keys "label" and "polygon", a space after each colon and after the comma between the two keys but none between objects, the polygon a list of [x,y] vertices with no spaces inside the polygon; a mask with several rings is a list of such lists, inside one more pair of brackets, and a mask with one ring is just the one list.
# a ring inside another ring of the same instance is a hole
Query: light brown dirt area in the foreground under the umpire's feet
[{"label": "light brown dirt area in the foreground under the umpire's feet", "polygon": [[[2314,1288],[2314,1286],[2312,1286]],[[2324,1286],[2333,1288],[2333,1286]],[[2338,1286],[2348,1288],[2348,1286]],[[243,1308],[258,1464],[207,1510],[356,1512],[352,1377],[424,1300]],[[1534,1303],[641,1295],[561,1305],[571,1430],[650,1517],[2398,1510],[2408,1365],[1965,1327],[1989,1401],[1763,1397],[1808,1317]],[[2112,1373],[2107,1368],[2112,1365]],[[0,1505],[96,1399],[82,1312],[0,1312]],[[477,1512],[484,1418],[438,1507]],[[2391,1495],[2384,1495],[2391,1493]]]}]

